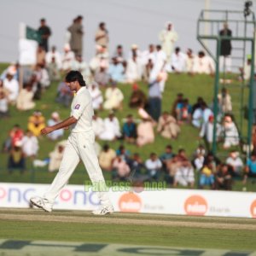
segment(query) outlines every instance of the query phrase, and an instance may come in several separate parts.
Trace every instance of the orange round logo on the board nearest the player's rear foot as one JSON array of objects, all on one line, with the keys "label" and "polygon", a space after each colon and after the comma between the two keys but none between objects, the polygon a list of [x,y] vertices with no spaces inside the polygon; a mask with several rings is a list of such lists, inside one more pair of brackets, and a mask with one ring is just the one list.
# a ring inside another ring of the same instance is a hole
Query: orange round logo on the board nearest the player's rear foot
[{"label": "orange round logo on the board nearest the player's rear foot", "polygon": [[119,210],[121,212],[140,212],[143,206],[141,198],[132,193],[125,193],[119,198]]}]

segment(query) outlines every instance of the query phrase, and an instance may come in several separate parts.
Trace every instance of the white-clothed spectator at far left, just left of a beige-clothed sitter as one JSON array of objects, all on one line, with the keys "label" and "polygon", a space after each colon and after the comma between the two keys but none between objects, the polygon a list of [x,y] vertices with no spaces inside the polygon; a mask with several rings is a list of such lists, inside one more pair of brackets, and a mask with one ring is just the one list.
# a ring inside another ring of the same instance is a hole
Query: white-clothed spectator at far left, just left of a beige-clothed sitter
[{"label": "white-clothed spectator at far left, just left of a beige-clothed sitter", "polygon": [[8,101],[15,104],[19,95],[19,83],[14,79],[13,73],[6,75],[6,79],[3,80],[3,88],[8,91]]}]

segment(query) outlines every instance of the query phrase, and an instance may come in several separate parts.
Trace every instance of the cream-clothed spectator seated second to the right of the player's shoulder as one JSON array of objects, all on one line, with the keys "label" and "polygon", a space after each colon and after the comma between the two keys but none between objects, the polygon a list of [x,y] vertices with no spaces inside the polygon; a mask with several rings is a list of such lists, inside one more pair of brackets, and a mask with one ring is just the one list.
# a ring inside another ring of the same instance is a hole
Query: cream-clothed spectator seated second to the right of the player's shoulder
[{"label": "cream-clothed spectator seated second to the right of the player's shoulder", "polygon": [[104,109],[122,109],[124,95],[115,82],[112,83],[105,93],[106,102],[103,104]]}]

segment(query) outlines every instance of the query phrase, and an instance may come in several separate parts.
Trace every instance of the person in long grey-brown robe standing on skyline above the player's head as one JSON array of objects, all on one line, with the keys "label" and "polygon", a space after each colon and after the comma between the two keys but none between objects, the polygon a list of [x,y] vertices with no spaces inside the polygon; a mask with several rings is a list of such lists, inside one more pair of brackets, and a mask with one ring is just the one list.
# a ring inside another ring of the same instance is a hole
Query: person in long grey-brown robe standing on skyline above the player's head
[{"label": "person in long grey-brown robe standing on skyline above the player's head", "polygon": [[83,16],[79,15],[75,20],[73,20],[73,25],[69,26],[67,30],[71,34],[70,38],[70,48],[77,55],[83,55],[83,36],[84,29],[82,25]]}]

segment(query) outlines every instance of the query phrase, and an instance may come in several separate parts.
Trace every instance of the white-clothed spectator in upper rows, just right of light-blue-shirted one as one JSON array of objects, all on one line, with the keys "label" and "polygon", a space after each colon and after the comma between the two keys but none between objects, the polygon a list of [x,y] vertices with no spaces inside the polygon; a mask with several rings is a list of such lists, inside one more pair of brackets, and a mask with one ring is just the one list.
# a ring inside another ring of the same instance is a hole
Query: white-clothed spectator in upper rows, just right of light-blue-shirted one
[{"label": "white-clothed spectator in upper rows, just right of light-blue-shirted one", "polygon": [[137,55],[132,55],[131,59],[127,61],[127,68],[125,71],[126,81],[129,84],[137,82],[142,79],[143,65],[137,58]]}]

